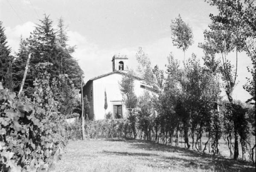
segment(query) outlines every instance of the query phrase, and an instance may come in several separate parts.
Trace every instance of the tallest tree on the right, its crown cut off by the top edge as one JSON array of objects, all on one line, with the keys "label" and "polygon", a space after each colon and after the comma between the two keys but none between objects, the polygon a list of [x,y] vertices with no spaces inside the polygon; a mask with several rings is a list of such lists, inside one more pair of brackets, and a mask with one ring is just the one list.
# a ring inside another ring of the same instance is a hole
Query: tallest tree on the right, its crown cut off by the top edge
[{"label": "tallest tree on the right, its crown cut off by the top edge", "polygon": [[[210,14],[209,17],[212,23],[209,25],[209,30],[205,31],[206,42],[201,46],[204,48],[205,53],[211,54],[213,57],[215,54],[221,55],[222,65],[219,70],[222,75],[222,79],[225,82],[225,91],[229,100],[227,110],[230,111],[226,115],[227,125],[232,125],[235,136],[234,147],[234,159],[239,156],[238,136],[241,134],[240,121],[237,120],[237,114],[243,108],[233,102],[233,89],[236,85],[237,66],[238,66],[238,52],[246,51],[248,56],[252,60],[253,68],[248,68],[253,78],[248,79],[247,85],[244,85],[252,96],[251,101],[255,99],[255,68],[256,68],[256,51],[255,42],[256,39],[256,3],[253,0],[206,0],[211,6],[216,6],[219,13],[217,15]],[[226,58],[227,54],[231,51],[236,52],[236,67],[234,67],[230,61]],[[244,119],[245,120],[245,119]],[[247,123],[245,123],[247,124]],[[229,127],[226,127],[229,128]],[[232,135],[230,133],[229,135]],[[243,135],[240,135],[243,137]],[[230,139],[230,138],[229,138]],[[242,149],[244,144],[241,144]],[[230,150],[230,155],[232,154]]]}]

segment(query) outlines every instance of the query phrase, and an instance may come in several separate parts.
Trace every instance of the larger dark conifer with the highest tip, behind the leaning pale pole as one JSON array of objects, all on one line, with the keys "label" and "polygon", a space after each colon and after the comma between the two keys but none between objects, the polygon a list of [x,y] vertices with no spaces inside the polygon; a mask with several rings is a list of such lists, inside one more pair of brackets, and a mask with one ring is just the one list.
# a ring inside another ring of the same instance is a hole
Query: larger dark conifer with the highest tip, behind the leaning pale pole
[{"label": "larger dark conifer with the highest tip, behind the leaning pale pole", "polygon": [[45,69],[50,73],[51,78],[58,77],[60,74],[60,62],[57,59],[58,49],[55,43],[56,39],[54,29],[52,28],[52,20],[49,19],[49,16],[44,14],[43,20],[39,21],[40,24],[36,25],[35,30],[30,34],[29,38],[20,40],[20,48],[13,66],[14,90],[18,92],[23,79],[28,55],[29,53],[32,54],[23,88],[26,96],[31,96],[34,92],[35,65],[38,63],[49,62],[52,64],[47,65]]}]

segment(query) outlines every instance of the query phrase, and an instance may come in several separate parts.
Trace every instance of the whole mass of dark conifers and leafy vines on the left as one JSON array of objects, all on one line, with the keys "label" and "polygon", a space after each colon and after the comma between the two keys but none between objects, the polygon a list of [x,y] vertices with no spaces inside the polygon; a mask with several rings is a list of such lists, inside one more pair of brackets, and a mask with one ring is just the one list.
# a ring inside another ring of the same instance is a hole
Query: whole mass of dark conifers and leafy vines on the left
[{"label": "whole mass of dark conifers and leafy vines on the left", "polygon": [[83,71],[67,40],[64,20],[54,29],[44,15],[12,56],[0,22],[0,171],[48,170],[60,158],[65,119],[81,112]]}]

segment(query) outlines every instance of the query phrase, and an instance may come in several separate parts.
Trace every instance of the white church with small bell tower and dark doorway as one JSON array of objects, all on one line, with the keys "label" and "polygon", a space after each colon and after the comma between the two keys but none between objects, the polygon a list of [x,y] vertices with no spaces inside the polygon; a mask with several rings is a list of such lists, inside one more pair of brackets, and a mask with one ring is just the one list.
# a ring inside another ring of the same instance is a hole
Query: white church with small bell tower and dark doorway
[{"label": "white church with small bell tower and dark doorway", "polygon": [[[84,96],[90,102],[89,119],[105,119],[107,113],[112,114],[112,118],[126,118],[127,110],[122,101],[120,82],[124,75],[127,75],[125,65],[127,56],[114,55],[112,58],[113,71],[101,76],[96,76],[86,82],[83,87]],[[148,86],[143,83],[143,79],[134,76],[134,93],[141,96]],[[106,96],[105,96],[106,93]],[[105,110],[105,97],[107,99],[107,109]]]}]

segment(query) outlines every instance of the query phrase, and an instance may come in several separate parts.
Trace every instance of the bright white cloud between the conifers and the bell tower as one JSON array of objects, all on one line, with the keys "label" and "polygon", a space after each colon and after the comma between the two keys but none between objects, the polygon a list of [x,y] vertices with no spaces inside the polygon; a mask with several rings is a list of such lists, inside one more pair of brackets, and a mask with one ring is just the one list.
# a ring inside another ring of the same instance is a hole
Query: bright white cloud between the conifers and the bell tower
[{"label": "bright white cloud between the conifers and the bell tower", "polygon": [[[76,31],[68,31],[69,45],[76,45],[72,54],[78,60],[84,71],[84,81],[112,71],[112,57],[114,54],[125,54],[134,57],[135,48],[99,48],[98,45],[88,42],[87,38]],[[135,58],[135,57],[134,57]],[[129,65],[130,66],[130,65]]]}]

